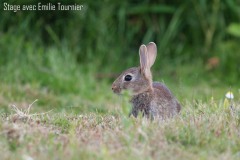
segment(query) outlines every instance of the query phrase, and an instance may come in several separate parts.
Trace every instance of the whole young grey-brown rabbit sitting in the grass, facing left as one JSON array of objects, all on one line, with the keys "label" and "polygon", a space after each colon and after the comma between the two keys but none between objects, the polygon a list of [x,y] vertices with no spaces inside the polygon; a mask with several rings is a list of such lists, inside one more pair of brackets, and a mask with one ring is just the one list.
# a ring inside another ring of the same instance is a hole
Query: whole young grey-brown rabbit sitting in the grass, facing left
[{"label": "whole young grey-brown rabbit sitting in the grass, facing left", "polygon": [[164,84],[152,81],[150,68],[157,56],[156,44],[141,45],[139,56],[140,66],[124,71],[113,82],[113,92],[131,91],[133,107],[130,115],[134,117],[143,114],[151,119],[165,119],[176,115],[181,110],[178,100]]}]

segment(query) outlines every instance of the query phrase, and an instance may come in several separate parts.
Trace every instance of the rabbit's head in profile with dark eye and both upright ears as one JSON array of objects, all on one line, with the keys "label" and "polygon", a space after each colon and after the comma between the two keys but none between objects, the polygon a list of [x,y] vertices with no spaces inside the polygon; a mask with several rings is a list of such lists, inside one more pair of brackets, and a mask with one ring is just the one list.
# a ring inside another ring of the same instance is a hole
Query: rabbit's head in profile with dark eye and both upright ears
[{"label": "rabbit's head in profile with dark eye and both upright ears", "polygon": [[121,93],[122,90],[129,90],[133,95],[145,91],[152,91],[151,66],[157,56],[156,44],[150,42],[147,46],[139,48],[140,66],[125,70],[112,84],[114,93]]}]

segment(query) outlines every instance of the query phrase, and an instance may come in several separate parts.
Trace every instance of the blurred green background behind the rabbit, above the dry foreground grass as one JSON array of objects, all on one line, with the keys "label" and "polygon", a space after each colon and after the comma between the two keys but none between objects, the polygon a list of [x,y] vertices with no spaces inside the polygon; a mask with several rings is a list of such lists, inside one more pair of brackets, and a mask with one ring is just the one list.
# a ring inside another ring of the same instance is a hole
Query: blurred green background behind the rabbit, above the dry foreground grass
[{"label": "blurred green background behind the rabbit, above the dry foreground grass", "polygon": [[15,13],[4,11],[0,3],[1,111],[8,111],[11,103],[24,106],[39,99],[38,106],[56,111],[106,113],[117,100],[112,81],[139,65],[138,48],[150,41],[158,46],[154,80],[165,82],[180,101],[215,93],[222,98],[229,89],[240,93],[240,1],[42,4],[48,2],[84,7]]}]

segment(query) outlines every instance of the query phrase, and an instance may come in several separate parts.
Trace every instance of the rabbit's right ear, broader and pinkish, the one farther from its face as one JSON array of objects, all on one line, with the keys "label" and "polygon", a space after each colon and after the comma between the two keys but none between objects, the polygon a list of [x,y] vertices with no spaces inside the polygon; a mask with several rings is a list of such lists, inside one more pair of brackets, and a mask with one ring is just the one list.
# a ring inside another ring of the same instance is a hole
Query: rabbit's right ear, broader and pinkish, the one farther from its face
[{"label": "rabbit's right ear, broader and pinkish, the one farther from its face", "polygon": [[147,56],[148,56],[148,65],[149,65],[149,68],[151,68],[157,57],[157,46],[154,42],[148,43]]}]

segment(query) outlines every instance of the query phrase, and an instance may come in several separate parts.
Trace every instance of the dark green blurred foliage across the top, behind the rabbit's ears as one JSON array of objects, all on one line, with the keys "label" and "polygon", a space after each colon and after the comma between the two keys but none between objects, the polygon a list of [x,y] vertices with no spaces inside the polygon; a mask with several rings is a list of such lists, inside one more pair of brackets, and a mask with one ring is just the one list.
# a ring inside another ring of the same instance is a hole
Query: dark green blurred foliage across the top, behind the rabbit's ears
[{"label": "dark green blurred foliage across the top, behind the rabbit's ears", "polygon": [[[59,1],[48,2],[56,4]],[[8,3],[22,5],[38,1],[10,0]],[[239,47],[235,48],[239,43],[238,1],[62,0],[61,3],[82,4],[84,9],[17,13],[0,10],[1,66],[12,60],[27,63],[35,60],[34,63],[38,63],[35,67],[44,68],[45,63],[52,62],[48,58],[65,59],[67,56],[74,59],[74,63],[93,64],[97,72],[121,71],[125,66],[138,65],[137,51],[141,43],[154,41],[159,53],[155,70],[163,71],[169,63],[181,66],[201,61],[204,66],[208,58],[216,56],[220,59],[220,67],[213,70],[214,74],[218,75],[222,68],[231,68],[222,74],[230,77],[229,82],[224,79],[228,84],[240,77],[239,66],[234,66],[238,63],[235,56],[239,54]],[[232,44],[224,50],[235,54],[226,60],[219,50],[229,43]],[[55,54],[48,57],[48,50],[54,50]],[[218,75],[219,78],[222,75]]]}]

